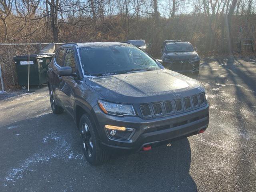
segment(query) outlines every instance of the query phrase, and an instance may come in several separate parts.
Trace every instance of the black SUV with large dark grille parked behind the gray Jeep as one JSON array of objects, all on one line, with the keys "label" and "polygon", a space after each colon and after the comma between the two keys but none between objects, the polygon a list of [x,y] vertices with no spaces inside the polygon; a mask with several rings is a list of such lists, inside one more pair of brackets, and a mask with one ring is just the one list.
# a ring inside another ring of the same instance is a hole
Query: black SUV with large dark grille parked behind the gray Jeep
[{"label": "black SUV with large dark grille parked behind the gray Jeep", "polygon": [[189,42],[166,42],[164,49],[161,51],[165,68],[182,74],[199,74],[200,57],[196,52],[196,48]]}]

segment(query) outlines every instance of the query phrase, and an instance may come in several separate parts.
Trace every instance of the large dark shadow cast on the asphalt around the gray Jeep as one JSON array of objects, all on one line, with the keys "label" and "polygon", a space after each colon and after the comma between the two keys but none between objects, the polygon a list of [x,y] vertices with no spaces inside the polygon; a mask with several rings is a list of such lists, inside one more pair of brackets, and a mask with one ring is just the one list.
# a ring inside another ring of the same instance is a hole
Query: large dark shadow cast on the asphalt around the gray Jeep
[{"label": "large dark shadow cast on the asphalt around the gray Jeep", "polygon": [[91,166],[83,156],[80,133],[66,113],[44,114],[0,130],[1,191],[197,191],[189,175],[187,138]]}]

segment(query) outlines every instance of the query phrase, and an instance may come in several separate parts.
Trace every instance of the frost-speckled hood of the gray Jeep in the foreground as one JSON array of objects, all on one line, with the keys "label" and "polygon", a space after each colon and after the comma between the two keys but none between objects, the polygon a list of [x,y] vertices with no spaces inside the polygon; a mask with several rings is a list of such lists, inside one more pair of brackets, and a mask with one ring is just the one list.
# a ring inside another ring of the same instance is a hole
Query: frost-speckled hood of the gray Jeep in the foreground
[{"label": "frost-speckled hood of the gray Jeep in the foreground", "polygon": [[204,91],[200,82],[166,69],[89,77],[85,83],[106,100],[127,104],[172,100]]}]

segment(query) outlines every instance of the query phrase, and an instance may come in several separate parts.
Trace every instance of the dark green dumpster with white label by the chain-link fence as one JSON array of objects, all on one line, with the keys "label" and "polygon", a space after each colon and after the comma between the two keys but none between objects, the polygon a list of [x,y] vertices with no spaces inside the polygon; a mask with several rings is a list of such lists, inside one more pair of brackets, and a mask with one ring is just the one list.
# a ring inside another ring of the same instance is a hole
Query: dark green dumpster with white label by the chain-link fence
[{"label": "dark green dumpster with white label by the chain-link fence", "polygon": [[[30,85],[42,85],[47,83],[46,75],[54,53],[30,55]],[[28,86],[28,55],[15,56],[13,58],[20,86]]]}]

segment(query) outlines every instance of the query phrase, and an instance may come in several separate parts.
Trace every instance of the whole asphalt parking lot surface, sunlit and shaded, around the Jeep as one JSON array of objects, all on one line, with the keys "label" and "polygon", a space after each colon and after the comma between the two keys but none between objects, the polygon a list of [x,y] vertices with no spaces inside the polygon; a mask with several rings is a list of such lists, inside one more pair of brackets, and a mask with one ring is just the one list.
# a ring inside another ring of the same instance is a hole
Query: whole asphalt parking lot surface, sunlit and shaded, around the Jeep
[{"label": "whole asphalt parking lot surface, sunlit and shaded, around the Jeep", "polygon": [[72,118],[52,113],[46,86],[0,94],[0,191],[255,191],[256,60],[205,60],[198,80],[204,134],[101,166],[86,162]]}]

